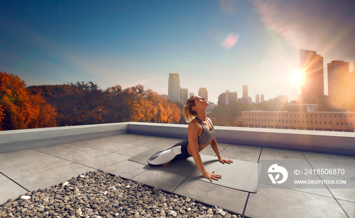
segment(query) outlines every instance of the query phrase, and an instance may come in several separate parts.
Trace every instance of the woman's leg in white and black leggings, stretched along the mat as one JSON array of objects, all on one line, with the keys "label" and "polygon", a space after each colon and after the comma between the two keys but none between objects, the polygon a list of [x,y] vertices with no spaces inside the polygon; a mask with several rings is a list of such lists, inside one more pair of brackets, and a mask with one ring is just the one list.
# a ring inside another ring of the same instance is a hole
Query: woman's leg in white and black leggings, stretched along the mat
[{"label": "woman's leg in white and black leggings, stretched along the mat", "polygon": [[188,140],[184,140],[175,144],[170,149],[155,153],[152,157],[148,159],[148,164],[151,166],[160,166],[163,164],[170,163],[171,161],[174,161],[176,159],[180,159],[182,156],[181,148],[188,143]]}]

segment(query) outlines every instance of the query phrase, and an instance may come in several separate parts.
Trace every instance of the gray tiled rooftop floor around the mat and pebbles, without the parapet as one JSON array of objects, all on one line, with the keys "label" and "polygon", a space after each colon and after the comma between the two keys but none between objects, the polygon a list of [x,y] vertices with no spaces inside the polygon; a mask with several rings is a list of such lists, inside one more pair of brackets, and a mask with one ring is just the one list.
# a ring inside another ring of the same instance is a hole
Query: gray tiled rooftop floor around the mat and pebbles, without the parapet
[{"label": "gray tiled rooftop floor around the mat and pebbles, without the parapet", "polygon": [[[0,204],[27,191],[44,189],[81,173],[103,170],[177,195],[217,205],[250,217],[355,217],[355,157],[219,143],[223,157],[264,164],[256,194],[177,175],[128,161],[151,148],[166,149],[181,139],[123,134],[11,153],[0,153]],[[210,147],[201,152],[215,156]],[[346,179],[346,188],[315,188],[271,183],[273,163],[289,173],[288,181]],[[344,169],[341,175],[295,175],[295,169]],[[240,178],[243,179],[243,178]]]}]

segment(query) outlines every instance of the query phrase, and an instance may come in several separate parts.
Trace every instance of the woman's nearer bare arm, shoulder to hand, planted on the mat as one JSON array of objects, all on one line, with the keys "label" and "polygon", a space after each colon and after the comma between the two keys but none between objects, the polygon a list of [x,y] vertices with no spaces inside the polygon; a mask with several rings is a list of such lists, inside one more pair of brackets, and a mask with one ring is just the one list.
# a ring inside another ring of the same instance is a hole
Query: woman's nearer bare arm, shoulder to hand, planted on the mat
[{"label": "woman's nearer bare arm, shoulder to hand, planted on the mat", "polygon": [[208,178],[210,181],[212,181],[212,179],[218,180],[219,178],[221,178],[221,175],[214,174],[215,171],[207,172],[202,164],[201,156],[198,153],[199,127],[200,127],[199,123],[192,121],[189,124],[189,128],[188,128],[189,146],[190,146],[192,157],[194,158],[197,168],[200,170],[200,172],[204,177]]}]

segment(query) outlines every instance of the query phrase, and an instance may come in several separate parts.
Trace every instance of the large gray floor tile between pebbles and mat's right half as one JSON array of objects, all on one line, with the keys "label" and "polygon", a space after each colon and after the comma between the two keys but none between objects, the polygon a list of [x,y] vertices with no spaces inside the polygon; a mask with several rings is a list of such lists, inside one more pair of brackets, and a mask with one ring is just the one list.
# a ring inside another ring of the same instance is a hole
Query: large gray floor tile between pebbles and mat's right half
[{"label": "large gray floor tile between pebbles and mat's right half", "polygon": [[214,183],[187,178],[173,192],[211,206],[242,214],[248,193],[215,185]]}]

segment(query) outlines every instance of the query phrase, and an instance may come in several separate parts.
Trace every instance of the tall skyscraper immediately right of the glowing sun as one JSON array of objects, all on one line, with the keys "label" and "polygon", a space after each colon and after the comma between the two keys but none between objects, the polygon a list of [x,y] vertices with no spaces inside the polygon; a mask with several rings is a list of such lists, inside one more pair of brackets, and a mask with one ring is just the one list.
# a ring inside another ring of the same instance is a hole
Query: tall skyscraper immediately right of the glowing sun
[{"label": "tall skyscraper immediately right of the glowing sun", "polygon": [[307,103],[324,96],[323,57],[315,51],[300,49],[300,69],[303,74],[302,98]]}]

